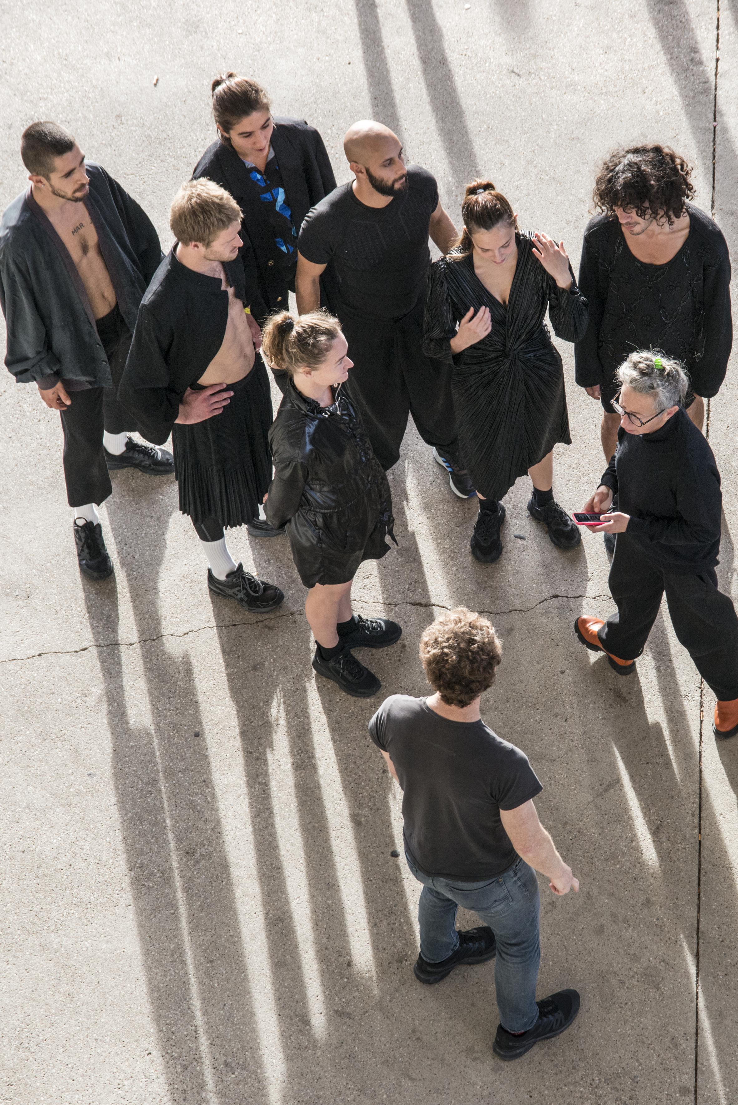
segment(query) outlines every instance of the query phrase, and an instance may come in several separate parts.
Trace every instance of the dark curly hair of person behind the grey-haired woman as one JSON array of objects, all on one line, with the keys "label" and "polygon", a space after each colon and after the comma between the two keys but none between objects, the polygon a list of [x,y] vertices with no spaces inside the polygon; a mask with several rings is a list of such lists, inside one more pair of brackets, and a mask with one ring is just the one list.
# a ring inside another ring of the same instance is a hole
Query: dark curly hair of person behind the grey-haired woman
[{"label": "dark curly hair of person behind the grey-haired woman", "polygon": [[616,149],[602,162],[594,182],[598,211],[634,211],[639,219],[666,219],[671,225],[685,211],[695,188],[692,166],[668,146]]}]

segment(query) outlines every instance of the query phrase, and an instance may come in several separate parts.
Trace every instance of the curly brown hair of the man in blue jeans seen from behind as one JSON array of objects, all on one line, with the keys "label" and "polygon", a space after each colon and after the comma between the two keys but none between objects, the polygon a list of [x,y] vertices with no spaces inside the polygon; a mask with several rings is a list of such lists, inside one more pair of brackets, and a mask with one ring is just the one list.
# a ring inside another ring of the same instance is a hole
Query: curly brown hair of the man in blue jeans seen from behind
[{"label": "curly brown hair of the man in blue jeans seen from behind", "polygon": [[425,677],[447,706],[468,706],[492,686],[503,646],[494,625],[466,607],[441,614],[420,639]]}]

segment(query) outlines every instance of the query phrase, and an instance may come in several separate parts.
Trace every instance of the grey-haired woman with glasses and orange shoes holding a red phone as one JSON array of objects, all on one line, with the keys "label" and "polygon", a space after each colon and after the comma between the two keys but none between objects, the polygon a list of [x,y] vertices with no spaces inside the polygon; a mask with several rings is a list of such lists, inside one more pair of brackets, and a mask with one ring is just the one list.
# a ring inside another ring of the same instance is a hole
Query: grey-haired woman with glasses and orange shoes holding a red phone
[{"label": "grey-haired woman with glasses and orange shoes holding a red phone", "polygon": [[[717,698],[713,732],[738,733],[738,618],[717,589],[720,474],[684,410],[689,378],[658,350],[633,352],[618,369],[618,449],[584,506],[593,529],[616,534],[610,591],[618,613],[582,615],[577,636],[630,675],[666,592],[674,631]],[[618,495],[618,509],[612,511]]]}]

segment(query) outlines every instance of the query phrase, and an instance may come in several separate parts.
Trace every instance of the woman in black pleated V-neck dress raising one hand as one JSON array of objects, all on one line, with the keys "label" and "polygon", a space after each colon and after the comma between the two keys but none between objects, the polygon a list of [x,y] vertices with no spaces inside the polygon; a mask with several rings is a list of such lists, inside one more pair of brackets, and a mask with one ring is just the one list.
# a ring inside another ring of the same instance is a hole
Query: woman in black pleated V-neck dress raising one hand
[{"label": "woman in black pleated V-neck dress raising one hand", "polygon": [[499,502],[528,475],[530,515],[559,548],[581,536],[554,498],[554,445],[569,445],[569,417],[557,337],[578,341],[588,323],[563,243],[521,233],[491,181],[474,181],[462,204],[458,244],[431,266],[424,350],[450,361],[462,455],[479,498],[472,552],[492,564],[503,551]]}]

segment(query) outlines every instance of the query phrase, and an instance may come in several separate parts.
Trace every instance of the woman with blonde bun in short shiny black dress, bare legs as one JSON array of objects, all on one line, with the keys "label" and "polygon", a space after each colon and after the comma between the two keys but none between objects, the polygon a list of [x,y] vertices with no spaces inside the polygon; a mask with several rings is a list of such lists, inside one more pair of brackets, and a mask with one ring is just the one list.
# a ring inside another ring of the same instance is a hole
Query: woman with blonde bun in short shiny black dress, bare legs
[{"label": "woman with blonde bun in short shiny black dress, bare legs", "polygon": [[[396,622],[351,612],[351,583],[362,560],[379,560],[394,536],[387,476],[371,451],[361,420],[340,394],[352,361],[340,323],[312,312],[273,315],[264,327],[270,365],[288,375],[270,444],[274,478],[266,518],[287,526],[316,651],[313,667],[357,697],[381,684],[351,649],[394,644]],[[397,544],[397,543],[396,543]]]}]

